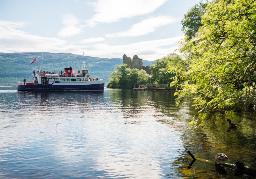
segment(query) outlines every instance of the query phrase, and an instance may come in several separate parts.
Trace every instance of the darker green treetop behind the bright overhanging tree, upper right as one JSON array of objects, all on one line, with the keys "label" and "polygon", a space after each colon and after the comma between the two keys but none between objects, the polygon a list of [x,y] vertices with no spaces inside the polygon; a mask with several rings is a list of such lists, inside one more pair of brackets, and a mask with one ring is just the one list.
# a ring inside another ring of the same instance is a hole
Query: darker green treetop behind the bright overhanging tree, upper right
[{"label": "darker green treetop behind the bright overhanging tree, upper right", "polygon": [[201,18],[206,12],[205,8],[208,3],[200,2],[199,5],[196,4],[184,15],[182,19],[182,31],[186,35],[186,40],[189,41],[196,36],[198,29],[202,26]]}]

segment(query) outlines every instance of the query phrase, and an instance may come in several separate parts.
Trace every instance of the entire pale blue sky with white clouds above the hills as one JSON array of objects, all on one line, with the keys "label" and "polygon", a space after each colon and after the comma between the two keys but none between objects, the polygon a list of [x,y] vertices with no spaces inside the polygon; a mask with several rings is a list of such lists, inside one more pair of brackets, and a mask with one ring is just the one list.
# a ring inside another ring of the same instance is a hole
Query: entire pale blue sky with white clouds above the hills
[{"label": "entire pale blue sky with white clouds above the hills", "polygon": [[0,52],[138,55],[178,48],[180,21],[199,0],[0,0]]}]

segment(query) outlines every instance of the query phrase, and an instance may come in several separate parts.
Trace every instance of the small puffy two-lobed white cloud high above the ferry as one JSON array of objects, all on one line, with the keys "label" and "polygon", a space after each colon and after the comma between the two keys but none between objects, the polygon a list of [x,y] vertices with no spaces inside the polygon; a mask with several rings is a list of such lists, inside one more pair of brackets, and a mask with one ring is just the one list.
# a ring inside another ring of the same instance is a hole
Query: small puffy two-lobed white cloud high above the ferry
[{"label": "small puffy two-lobed white cloud high above the ferry", "polygon": [[76,18],[73,14],[64,14],[62,15],[62,24],[65,27],[61,28],[58,32],[58,36],[60,37],[70,37],[82,32],[81,27],[77,27],[79,24],[79,19]]}]

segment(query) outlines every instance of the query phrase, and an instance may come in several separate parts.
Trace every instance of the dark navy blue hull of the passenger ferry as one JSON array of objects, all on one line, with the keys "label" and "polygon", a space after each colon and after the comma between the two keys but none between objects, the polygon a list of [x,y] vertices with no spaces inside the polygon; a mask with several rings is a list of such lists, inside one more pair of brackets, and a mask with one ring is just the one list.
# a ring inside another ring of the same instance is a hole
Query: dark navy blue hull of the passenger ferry
[{"label": "dark navy blue hull of the passenger ferry", "polygon": [[104,83],[90,85],[17,85],[18,91],[102,91]]}]

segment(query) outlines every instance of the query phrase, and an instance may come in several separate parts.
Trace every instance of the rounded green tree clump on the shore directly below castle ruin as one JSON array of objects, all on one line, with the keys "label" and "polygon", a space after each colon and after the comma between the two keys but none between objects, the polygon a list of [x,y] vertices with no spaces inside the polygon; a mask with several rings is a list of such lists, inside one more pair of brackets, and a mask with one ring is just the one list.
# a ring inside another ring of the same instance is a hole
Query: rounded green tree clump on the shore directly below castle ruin
[{"label": "rounded green tree clump on the shore directly below castle ruin", "polygon": [[127,64],[117,65],[117,70],[109,74],[107,88],[133,88],[142,84],[150,83],[151,76],[145,70],[130,69]]}]

